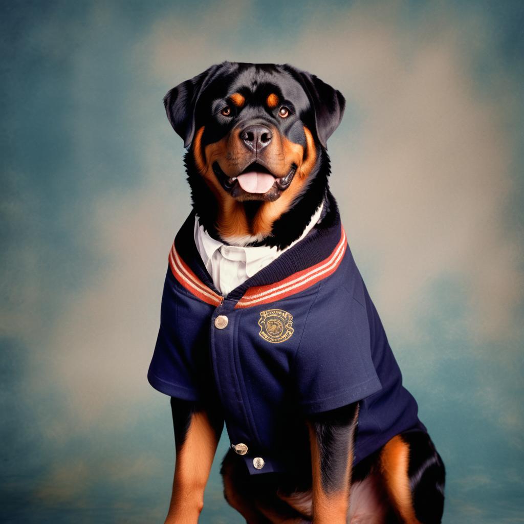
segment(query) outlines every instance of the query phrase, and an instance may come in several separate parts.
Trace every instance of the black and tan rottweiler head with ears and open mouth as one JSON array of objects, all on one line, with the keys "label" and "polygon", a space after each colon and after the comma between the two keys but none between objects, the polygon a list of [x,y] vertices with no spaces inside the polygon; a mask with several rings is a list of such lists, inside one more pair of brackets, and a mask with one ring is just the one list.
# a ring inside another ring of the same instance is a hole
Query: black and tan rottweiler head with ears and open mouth
[{"label": "black and tan rottweiler head with ears and open mouth", "polygon": [[214,196],[222,238],[271,234],[307,191],[344,103],[288,64],[223,62],[166,94],[169,122]]}]

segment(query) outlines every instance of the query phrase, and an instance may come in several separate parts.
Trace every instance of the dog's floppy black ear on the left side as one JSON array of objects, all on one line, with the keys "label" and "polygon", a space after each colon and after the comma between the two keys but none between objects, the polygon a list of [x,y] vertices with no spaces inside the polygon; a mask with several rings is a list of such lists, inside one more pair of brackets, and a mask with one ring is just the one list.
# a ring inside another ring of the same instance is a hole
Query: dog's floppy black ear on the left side
[{"label": "dog's floppy black ear on the left side", "polygon": [[188,148],[195,133],[196,103],[205,87],[214,78],[216,71],[222,66],[212,65],[196,77],[178,84],[169,90],[163,98],[164,107],[173,129],[182,137],[184,147]]}]

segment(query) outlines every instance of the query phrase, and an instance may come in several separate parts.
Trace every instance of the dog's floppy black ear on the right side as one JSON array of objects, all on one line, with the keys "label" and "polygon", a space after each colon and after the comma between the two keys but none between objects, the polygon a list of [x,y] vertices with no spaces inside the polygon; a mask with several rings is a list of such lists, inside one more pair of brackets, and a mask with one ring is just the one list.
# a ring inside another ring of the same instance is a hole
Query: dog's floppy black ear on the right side
[{"label": "dog's floppy black ear on the right side", "polygon": [[284,67],[299,81],[308,95],[315,115],[316,136],[322,147],[327,149],[328,138],[339,127],[344,114],[344,96],[314,74],[301,71],[290,64],[284,64]]}]

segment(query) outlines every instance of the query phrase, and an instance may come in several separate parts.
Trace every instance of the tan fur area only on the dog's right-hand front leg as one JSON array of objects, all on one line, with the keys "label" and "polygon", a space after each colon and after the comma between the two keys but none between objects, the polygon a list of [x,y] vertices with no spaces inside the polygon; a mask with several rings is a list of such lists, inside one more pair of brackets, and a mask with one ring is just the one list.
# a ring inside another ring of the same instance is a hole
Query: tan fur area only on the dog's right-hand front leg
[{"label": "tan fur area only on the dog's right-hand front leg", "polygon": [[[346,482],[344,488],[335,494],[326,494],[322,488],[320,471],[320,450],[316,440],[315,430],[308,422],[309,440],[311,446],[311,473],[313,479],[313,522],[315,524],[345,524],[350,497],[349,470],[353,460],[348,460]],[[351,454],[353,456],[353,454]]]}]

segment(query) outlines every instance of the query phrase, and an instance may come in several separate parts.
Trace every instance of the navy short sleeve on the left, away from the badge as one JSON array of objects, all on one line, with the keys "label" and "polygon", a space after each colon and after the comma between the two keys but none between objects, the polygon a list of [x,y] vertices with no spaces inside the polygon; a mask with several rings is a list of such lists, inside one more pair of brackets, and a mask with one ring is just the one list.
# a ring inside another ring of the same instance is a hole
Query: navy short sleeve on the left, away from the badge
[{"label": "navy short sleeve on the left, away from the badge", "polygon": [[[152,387],[166,395],[195,401],[200,397],[198,374],[202,369],[198,350],[205,342],[198,340],[196,326],[184,325],[184,316],[192,316],[188,311],[190,307],[168,268],[162,292],[160,328],[147,378]],[[184,325],[183,334],[180,325]]]}]

